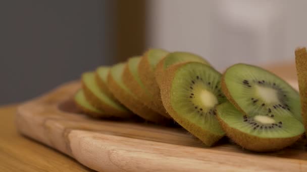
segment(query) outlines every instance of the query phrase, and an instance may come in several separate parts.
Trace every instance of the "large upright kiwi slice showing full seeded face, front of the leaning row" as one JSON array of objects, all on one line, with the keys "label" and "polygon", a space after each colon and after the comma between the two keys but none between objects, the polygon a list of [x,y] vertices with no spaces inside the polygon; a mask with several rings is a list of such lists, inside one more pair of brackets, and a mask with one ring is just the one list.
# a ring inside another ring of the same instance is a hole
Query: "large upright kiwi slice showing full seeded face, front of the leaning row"
[{"label": "large upright kiwi slice showing full seeded face, front of the leaning row", "polygon": [[221,92],[221,78],[209,65],[186,62],[170,67],[160,85],[167,112],[207,146],[225,135],[215,109],[227,101]]}]

